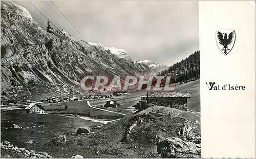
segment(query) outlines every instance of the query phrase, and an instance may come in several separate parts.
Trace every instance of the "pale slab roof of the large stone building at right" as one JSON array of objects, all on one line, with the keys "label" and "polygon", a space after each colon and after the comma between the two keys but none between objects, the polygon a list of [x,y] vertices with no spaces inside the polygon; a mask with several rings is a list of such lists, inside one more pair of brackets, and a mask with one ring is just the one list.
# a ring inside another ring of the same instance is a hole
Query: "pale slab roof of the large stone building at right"
[{"label": "pale slab roof of the large stone building at right", "polygon": [[170,92],[147,92],[148,97],[190,97],[188,92],[177,92],[177,91],[170,91]]}]

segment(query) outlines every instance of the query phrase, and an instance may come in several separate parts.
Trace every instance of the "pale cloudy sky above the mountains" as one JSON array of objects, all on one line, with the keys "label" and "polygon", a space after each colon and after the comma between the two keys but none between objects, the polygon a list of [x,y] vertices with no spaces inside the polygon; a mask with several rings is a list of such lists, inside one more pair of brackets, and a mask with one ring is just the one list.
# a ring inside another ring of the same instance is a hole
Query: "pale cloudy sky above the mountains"
[{"label": "pale cloudy sky above the mountains", "polygon": [[[47,20],[29,2],[17,1],[41,27]],[[174,64],[199,50],[198,2],[193,1],[33,1],[53,24],[77,40],[99,42],[129,52],[134,60]]]}]

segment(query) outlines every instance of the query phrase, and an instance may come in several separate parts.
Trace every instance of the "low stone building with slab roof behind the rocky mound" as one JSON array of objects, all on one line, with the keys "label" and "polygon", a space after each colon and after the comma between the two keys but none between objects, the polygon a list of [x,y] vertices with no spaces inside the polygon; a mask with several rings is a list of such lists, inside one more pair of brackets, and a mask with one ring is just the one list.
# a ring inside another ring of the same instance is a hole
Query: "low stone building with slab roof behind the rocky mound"
[{"label": "low stone building with slab roof behind the rocky mound", "polygon": [[147,104],[167,106],[181,110],[187,110],[188,92],[147,92]]}]

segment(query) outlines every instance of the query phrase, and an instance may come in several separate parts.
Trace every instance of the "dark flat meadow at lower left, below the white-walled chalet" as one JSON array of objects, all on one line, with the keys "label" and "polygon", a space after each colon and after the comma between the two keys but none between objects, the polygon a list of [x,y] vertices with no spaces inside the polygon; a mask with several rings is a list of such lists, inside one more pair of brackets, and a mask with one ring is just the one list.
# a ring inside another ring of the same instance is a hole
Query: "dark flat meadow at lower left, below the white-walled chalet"
[{"label": "dark flat meadow at lower left, below the white-walled chalet", "polygon": [[[13,129],[13,123],[26,129]],[[57,115],[2,113],[1,141],[7,140],[17,147],[48,152],[50,150],[44,148],[44,144],[56,135],[75,132],[81,126],[93,125],[101,124]],[[26,144],[29,140],[34,140],[34,143]]]}]

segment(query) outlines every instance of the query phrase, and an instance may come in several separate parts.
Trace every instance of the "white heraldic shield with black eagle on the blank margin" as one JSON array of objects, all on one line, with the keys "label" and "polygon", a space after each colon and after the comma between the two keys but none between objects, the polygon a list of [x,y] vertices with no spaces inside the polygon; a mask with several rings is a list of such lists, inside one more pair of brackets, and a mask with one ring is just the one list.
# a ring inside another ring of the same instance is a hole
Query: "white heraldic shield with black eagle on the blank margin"
[{"label": "white heraldic shield with black eagle on the blank margin", "polygon": [[236,41],[236,32],[233,29],[218,29],[216,31],[217,46],[224,55],[233,49],[234,41]]}]

